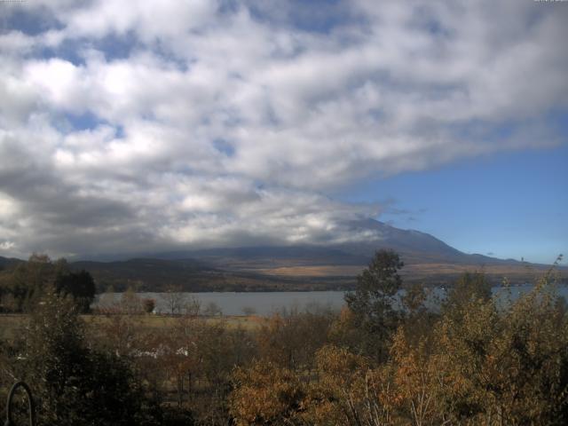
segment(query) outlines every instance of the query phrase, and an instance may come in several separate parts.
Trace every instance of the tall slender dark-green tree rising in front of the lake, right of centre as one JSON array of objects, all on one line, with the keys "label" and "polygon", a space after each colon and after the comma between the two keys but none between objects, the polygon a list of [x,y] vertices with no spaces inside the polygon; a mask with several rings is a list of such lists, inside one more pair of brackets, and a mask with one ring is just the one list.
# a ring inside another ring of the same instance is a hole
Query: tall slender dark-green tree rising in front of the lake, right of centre
[{"label": "tall slender dark-green tree rising in front of the lake, right of centre", "polygon": [[357,277],[355,292],[345,295],[356,325],[367,333],[362,349],[377,360],[386,358],[389,337],[398,324],[399,314],[394,304],[402,284],[398,271],[403,266],[394,251],[378,250],[367,269]]}]

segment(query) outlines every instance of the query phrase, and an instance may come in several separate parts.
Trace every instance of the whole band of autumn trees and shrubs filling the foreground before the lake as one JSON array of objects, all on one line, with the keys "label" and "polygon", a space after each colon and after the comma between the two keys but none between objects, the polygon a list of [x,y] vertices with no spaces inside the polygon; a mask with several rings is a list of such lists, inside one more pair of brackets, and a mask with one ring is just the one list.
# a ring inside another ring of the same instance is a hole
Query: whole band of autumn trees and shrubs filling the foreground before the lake
[{"label": "whole band of autumn trees and shrubs filling the foreground before the lake", "polygon": [[464,273],[434,309],[403,267],[378,251],[341,312],[235,322],[199,304],[156,319],[131,292],[90,312],[88,272],[32,256],[0,272],[0,401],[25,381],[38,425],[568,424],[555,265],[519,298]]}]

